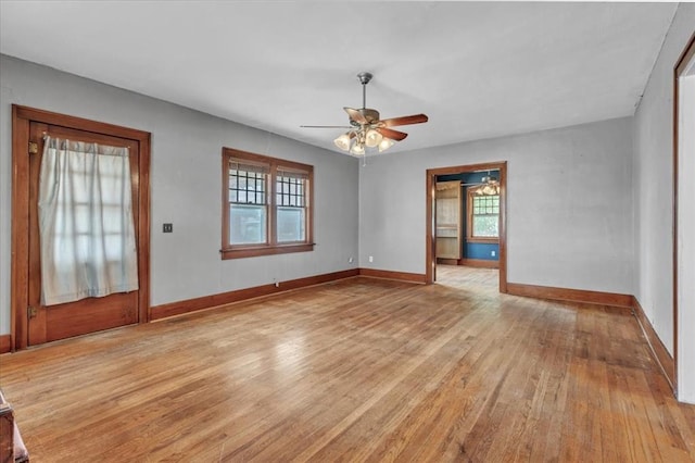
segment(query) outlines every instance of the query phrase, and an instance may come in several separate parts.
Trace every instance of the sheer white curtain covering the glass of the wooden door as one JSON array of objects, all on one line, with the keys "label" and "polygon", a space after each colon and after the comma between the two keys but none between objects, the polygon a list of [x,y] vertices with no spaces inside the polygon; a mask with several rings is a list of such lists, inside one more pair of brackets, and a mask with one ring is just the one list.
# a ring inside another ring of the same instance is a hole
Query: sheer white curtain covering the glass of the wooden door
[{"label": "sheer white curtain covering the glass of the wooden door", "polygon": [[45,305],[138,289],[127,148],[47,137],[38,207]]}]

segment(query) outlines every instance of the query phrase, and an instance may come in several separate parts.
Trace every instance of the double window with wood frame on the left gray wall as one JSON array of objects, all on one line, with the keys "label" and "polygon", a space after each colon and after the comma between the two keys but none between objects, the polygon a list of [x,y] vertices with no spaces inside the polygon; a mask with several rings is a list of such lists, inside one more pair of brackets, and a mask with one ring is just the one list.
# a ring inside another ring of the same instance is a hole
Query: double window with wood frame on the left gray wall
[{"label": "double window with wood frame on the left gray wall", "polygon": [[223,259],[311,251],[314,167],[223,148]]}]

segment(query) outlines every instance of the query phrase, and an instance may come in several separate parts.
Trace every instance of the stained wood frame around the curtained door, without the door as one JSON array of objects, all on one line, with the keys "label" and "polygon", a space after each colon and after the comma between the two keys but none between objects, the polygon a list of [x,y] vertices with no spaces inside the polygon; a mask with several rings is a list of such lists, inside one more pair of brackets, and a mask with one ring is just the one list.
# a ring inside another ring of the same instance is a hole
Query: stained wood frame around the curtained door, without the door
[{"label": "stained wood frame around the curtained door, without the door", "polygon": [[150,320],[150,139],[148,132],[90,121],[34,108],[12,105],[12,283],[11,283],[11,348],[28,345],[29,278],[29,125],[31,122],[59,125],[77,130],[128,138],[139,143],[138,191],[134,202],[139,211],[138,229],[138,323]]}]

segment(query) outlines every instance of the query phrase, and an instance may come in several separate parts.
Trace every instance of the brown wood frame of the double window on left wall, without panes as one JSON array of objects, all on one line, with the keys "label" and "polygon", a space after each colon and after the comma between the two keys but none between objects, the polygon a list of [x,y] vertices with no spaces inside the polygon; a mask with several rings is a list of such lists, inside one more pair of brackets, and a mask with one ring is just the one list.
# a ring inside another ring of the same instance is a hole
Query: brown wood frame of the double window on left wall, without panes
[{"label": "brown wood frame of the double window on left wall, without panes", "polygon": [[[232,245],[230,239],[229,208],[229,163],[232,160],[248,161],[252,164],[267,166],[266,180],[266,242],[253,245]],[[277,183],[278,172],[301,172],[306,175],[305,192],[305,239],[302,241],[278,242],[277,230]],[[244,259],[258,255],[285,254],[290,252],[307,252],[314,250],[314,166],[264,154],[241,151],[233,148],[222,149],[222,259]]]}]

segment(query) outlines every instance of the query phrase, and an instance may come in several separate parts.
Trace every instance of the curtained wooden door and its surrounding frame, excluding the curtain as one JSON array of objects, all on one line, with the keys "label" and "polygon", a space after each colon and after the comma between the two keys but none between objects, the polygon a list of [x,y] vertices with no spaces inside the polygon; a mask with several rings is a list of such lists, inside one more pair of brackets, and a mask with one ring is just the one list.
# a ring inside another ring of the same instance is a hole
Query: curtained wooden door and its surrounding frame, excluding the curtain
[{"label": "curtained wooden door and its surrounding frame, excluding the curtain", "polygon": [[[24,349],[149,318],[150,134],[111,124],[12,107],[12,348]],[[46,137],[127,148],[138,289],[100,298],[41,303],[38,183]],[[27,154],[28,150],[28,154]]]}]

